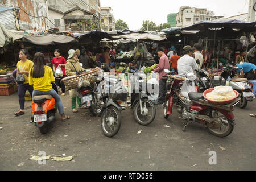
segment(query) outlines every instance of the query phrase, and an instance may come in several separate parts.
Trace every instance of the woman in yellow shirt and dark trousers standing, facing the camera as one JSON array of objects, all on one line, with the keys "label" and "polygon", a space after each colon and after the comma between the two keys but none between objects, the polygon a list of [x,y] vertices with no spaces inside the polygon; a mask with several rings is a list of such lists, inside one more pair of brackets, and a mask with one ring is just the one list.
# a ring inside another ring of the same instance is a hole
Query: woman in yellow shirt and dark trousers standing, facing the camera
[{"label": "woman in yellow shirt and dark trousers standing, facing the camera", "polygon": [[24,107],[25,107],[25,94],[26,90],[30,92],[30,96],[32,97],[33,86],[28,84],[28,73],[30,69],[33,67],[33,62],[27,59],[27,51],[22,49],[19,51],[19,59],[17,63],[17,76],[21,74],[25,78],[25,82],[23,84],[18,84],[18,96],[19,96],[19,106],[20,110],[15,115],[22,115],[24,114]]}]

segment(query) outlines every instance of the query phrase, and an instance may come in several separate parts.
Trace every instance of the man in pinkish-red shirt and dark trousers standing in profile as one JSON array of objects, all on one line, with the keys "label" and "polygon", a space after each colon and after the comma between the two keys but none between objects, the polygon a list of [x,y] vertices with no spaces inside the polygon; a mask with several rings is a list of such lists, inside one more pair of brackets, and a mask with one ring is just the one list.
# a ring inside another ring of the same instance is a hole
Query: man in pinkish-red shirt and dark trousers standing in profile
[{"label": "man in pinkish-red shirt and dark trousers standing in profile", "polygon": [[169,59],[164,53],[164,49],[161,47],[157,51],[158,57],[160,57],[158,68],[153,69],[154,72],[158,73],[158,82],[159,82],[159,95],[158,95],[158,106],[163,106],[166,97],[166,77],[168,73],[164,72],[164,69],[170,69]]}]

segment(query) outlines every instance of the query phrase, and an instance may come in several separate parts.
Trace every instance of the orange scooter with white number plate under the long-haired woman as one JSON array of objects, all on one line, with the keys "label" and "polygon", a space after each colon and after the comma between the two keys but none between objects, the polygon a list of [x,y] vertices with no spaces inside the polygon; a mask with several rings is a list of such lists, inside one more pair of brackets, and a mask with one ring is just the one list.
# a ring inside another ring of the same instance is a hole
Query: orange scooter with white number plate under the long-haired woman
[{"label": "orange scooter with white number plate under the long-haired woman", "polygon": [[[52,87],[57,92],[57,86],[52,83]],[[33,97],[31,121],[39,127],[40,133],[47,133],[48,124],[55,121],[56,112],[57,105],[51,95]]]}]

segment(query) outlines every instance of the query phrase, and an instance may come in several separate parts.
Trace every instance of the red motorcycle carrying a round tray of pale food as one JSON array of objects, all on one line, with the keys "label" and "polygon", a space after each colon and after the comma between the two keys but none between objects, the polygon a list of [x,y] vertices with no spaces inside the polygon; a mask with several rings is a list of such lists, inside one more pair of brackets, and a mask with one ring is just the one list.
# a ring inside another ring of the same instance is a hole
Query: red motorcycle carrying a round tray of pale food
[{"label": "red motorcycle carrying a round tray of pale food", "polygon": [[190,92],[189,98],[185,98],[180,94],[183,81],[192,81],[179,75],[164,77],[168,78],[164,118],[167,119],[172,114],[172,106],[175,103],[181,118],[187,121],[182,131],[186,131],[185,128],[195,121],[204,125],[217,137],[226,137],[232,133],[236,125],[233,110],[234,106],[240,102],[240,98],[226,105],[211,104],[204,99],[203,93]]}]

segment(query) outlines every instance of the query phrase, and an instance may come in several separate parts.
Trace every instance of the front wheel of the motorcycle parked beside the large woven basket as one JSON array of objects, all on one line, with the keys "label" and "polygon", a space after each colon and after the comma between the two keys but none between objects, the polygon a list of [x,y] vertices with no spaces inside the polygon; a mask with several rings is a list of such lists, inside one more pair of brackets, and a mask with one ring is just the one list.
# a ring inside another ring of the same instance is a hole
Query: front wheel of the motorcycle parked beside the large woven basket
[{"label": "front wheel of the motorcycle parked beside the large woven basket", "polygon": [[107,137],[116,135],[121,127],[121,112],[114,106],[108,107],[101,115],[101,129]]}]

